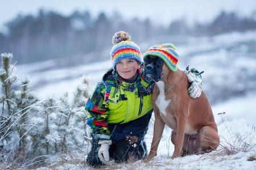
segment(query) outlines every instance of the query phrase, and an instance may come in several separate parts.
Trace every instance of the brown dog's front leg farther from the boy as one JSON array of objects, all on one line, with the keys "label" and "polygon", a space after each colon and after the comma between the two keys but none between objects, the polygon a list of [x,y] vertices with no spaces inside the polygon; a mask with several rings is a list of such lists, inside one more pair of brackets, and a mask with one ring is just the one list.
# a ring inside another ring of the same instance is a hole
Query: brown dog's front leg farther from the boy
[{"label": "brown dog's front leg farther from the boy", "polygon": [[183,150],[183,141],[185,135],[185,124],[187,123],[187,112],[179,112],[176,118],[177,121],[177,132],[175,138],[175,145],[174,145],[174,154],[172,154],[172,159],[181,156]]}]

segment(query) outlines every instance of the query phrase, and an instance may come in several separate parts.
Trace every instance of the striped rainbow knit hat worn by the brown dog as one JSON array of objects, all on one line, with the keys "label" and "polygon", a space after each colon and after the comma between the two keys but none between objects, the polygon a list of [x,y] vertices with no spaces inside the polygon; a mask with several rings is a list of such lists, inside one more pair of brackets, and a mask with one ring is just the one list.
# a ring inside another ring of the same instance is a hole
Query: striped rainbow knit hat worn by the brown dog
[{"label": "striped rainbow knit hat worn by the brown dog", "polygon": [[176,71],[177,62],[179,61],[179,55],[176,53],[176,50],[177,49],[174,44],[171,43],[154,45],[146,51],[143,59],[147,58],[148,56],[160,57],[172,71]]}]

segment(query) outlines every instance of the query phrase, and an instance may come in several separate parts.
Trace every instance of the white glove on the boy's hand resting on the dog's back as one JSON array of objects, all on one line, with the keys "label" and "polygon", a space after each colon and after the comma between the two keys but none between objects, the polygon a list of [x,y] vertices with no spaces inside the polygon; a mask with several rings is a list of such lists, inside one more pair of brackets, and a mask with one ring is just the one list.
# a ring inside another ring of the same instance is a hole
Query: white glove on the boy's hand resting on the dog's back
[{"label": "white glove on the boy's hand resting on the dog's back", "polygon": [[191,71],[187,71],[188,81],[191,82],[191,86],[188,88],[189,96],[197,98],[202,93],[203,83],[199,75],[195,75]]}]

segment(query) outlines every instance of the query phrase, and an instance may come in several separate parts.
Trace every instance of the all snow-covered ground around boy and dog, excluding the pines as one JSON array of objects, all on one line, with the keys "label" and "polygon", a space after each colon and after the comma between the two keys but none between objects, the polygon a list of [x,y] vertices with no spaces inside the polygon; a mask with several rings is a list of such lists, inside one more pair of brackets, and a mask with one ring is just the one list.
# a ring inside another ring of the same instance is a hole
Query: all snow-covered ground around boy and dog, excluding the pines
[{"label": "all snow-covered ground around boy and dog, excluding the pines", "polygon": [[[196,44],[196,45],[195,45]],[[170,159],[174,146],[170,141],[170,128],[166,127],[161,139],[158,156],[145,164],[110,164],[107,169],[256,169],[256,31],[229,33],[212,38],[189,39],[177,46],[180,52],[180,69],[190,64],[204,70],[204,90],[212,103],[214,117],[221,137],[217,151],[204,155]],[[152,45],[152,44],[150,44]],[[148,46],[150,46],[148,45]],[[108,55],[108,54],[106,54]],[[14,56],[15,57],[15,56]],[[29,75],[32,90],[40,97],[60,96],[73,92],[81,83],[82,75],[90,81],[89,91],[101,80],[109,67],[109,58],[97,63],[55,69],[56,61],[20,65],[15,69],[19,77]],[[223,113],[225,114],[218,114]],[[146,135],[148,150],[152,140],[154,117]],[[234,152],[227,155],[228,150]],[[247,147],[247,150],[246,150]],[[226,148],[226,149],[225,149]],[[79,161],[56,163],[54,169],[89,169]],[[44,167],[39,169],[51,169]]]}]

